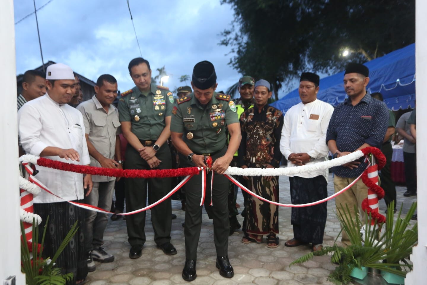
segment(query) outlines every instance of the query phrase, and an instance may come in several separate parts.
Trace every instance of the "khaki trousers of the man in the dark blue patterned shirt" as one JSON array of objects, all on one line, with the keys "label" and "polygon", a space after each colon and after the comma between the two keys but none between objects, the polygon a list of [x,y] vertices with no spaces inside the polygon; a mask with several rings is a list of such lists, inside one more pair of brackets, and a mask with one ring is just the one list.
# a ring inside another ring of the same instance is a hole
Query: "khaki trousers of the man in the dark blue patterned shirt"
[{"label": "khaki trousers of the man in the dark blue patterned shirt", "polygon": [[[355,177],[346,178],[334,175],[333,186],[335,193],[341,190],[342,188],[348,186],[355,179]],[[353,185],[353,187],[351,187],[350,189],[335,198],[336,213],[339,214],[338,210],[342,212],[341,207],[343,207],[344,211],[347,212],[347,207],[345,206],[347,204],[348,208],[350,209],[349,214],[352,217],[353,221],[356,221],[356,215],[359,214],[360,220],[362,224],[364,224],[365,213],[362,211],[362,201],[366,197],[368,197],[368,187],[363,183],[362,179],[359,179],[359,181],[357,181],[356,184]],[[355,212],[354,206],[357,206],[357,212]],[[348,239],[348,235],[344,231],[342,231],[341,234],[342,243],[345,245],[350,245],[351,242]]]}]

